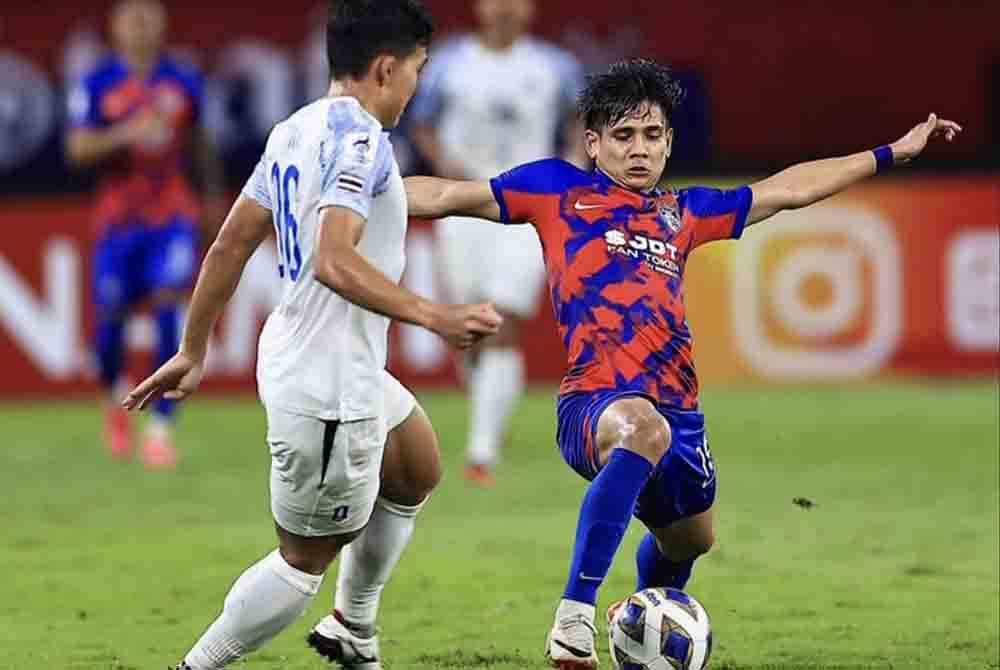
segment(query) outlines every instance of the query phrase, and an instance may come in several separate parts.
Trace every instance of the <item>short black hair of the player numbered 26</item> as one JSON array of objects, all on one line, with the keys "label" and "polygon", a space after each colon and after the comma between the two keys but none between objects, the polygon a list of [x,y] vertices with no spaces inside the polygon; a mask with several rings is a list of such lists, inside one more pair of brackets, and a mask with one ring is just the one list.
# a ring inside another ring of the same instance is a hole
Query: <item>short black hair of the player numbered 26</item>
[{"label": "short black hair of the player numbered 26", "polygon": [[326,22],[330,76],[363,77],[375,57],[428,46],[434,20],[420,0],[331,0]]}]

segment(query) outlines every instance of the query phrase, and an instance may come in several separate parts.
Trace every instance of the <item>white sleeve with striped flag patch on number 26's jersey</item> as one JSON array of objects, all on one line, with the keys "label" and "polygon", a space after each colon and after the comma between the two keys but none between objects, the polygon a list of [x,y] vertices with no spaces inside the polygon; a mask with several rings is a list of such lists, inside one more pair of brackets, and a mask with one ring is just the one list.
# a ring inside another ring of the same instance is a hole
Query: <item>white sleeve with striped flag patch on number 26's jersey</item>
[{"label": "white sleeve with striped flag patch on number 26's jersey", "polygon": [[355,105],[331,105],[319,156],[319,207],[347,207],[367,219],[376,184],[391,167],[390,152],[378,121]]}]

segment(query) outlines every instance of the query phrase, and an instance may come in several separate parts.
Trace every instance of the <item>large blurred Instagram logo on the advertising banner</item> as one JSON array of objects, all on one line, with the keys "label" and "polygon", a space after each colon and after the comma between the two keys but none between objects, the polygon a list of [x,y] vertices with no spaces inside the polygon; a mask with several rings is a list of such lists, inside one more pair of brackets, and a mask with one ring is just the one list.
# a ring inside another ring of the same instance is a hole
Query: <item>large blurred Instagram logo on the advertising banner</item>
[{"label": "large blurred Instagram logo on the advertising banner", "polygon": [[737,245],[737,345],[754,371],[843,378],[878,371],[902,330],[899,245],[855,207],[784,212]]}]

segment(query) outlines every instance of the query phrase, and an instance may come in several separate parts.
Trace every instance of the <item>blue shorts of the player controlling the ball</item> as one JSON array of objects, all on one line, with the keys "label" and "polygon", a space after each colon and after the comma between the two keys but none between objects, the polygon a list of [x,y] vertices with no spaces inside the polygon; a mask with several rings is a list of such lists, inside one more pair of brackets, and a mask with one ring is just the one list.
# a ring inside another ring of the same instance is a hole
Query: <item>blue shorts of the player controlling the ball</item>
[{"label": "blue shorts of the player controlling the ball", "polygon": [[[593,480],[600,472],[597,422],[601,414],[611,403],[629,397],[650,399],[631,391],[580,392],[559,398],[556,442],[563,459],[584,479]],[[705,416],[663,405],[657,410],[670,424],[671,440],[635,506],[635,517],[649,528],[663,528],[700,514],[715,501],[715,461],[708,449]]]}]

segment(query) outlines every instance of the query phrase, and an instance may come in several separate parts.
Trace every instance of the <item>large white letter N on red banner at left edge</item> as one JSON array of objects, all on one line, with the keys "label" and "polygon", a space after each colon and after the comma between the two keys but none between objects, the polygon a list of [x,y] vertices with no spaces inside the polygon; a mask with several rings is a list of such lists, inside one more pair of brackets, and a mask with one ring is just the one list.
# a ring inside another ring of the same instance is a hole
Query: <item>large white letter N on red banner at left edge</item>
[{"label": "large white letter N on red banner at left edge", "polygon": [[45,298],[36,300],[0,256],[0,324],[38,368],[54,379],[77,369],[80,334],[80,255],[55,237],[42,251]]}]

